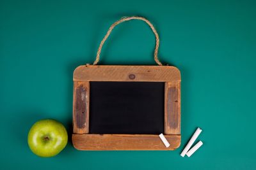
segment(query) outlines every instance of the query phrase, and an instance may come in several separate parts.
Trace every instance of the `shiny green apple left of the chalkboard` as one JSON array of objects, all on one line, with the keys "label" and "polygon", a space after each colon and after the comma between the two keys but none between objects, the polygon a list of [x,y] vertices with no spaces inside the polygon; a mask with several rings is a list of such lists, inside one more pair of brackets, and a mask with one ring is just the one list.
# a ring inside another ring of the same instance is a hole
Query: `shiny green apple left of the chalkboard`
[{"label": "shiny green apple left of the chalkboard", "polygon": [[36,122],[28,134],[28,145],[40,157],[53,157],[65,148],[68,134],[58,121],[44,119]]}]

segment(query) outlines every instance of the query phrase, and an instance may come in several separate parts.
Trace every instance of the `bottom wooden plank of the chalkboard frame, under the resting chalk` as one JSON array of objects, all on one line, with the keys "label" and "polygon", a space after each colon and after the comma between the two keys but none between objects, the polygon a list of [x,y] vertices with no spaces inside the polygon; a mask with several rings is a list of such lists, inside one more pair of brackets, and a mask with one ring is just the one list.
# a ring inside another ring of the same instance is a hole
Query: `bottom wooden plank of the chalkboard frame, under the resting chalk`
[{"label": "bottom wooden plank of the chalkboard frame, under the resting chalk", "polygon": [[73,134],[77,150],[175,150],[180,135],[164,135],[170,143],[166,148],[158,135],[147,134]]}]

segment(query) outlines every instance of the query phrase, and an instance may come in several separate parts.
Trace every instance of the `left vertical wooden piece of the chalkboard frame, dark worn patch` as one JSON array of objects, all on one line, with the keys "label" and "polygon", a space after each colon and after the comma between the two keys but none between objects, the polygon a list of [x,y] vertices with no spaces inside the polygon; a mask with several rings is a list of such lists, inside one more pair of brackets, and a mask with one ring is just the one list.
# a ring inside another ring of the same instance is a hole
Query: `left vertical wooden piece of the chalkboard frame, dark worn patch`
[{"label": "left vertical wooden piece of the chalkboard frame, dark worn patch", "polygon": [[88,81],[74,81],[73,132],[75,134],[89,132],[89,86]]}]

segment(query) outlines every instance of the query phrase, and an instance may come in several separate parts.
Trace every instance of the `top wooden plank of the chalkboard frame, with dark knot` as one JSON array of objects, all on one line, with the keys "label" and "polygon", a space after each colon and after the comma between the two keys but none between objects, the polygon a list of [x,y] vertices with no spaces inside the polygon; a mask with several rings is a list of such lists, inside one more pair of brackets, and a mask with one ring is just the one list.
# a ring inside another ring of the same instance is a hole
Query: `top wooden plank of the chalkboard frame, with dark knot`
[{"label": "top wooden plank of the chalkboard frame, with dark knot", "polygon": [[173,66],[79,66],[74,81],[180,81]]}]

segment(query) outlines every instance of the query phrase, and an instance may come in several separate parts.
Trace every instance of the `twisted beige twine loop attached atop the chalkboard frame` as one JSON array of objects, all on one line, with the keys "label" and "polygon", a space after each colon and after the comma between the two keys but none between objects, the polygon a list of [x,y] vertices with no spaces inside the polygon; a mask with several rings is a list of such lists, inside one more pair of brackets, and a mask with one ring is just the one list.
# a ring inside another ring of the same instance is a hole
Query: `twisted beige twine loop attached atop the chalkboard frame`
[{"label": "twisted beige twine loop attached atop the chalkboard frame", "polygon": [[120,20],[116,21],[114,24],[112,24],[111,27],[109,27],[107,34],[104,36],[104,38],[100,42],[100,46],[97,51],[97,56],[96,56],[95,61],[93,62],[93,65],[96,65],[99,62],[102,46],[104,45],[106,39],[108,39],[108,36],[111,33],[111,31],[114,29],[114,27],[122,22],[127,21],[127,20],[143,20],[150,26],[150,28],[152,29],[152,31],[154,32],[154,34],[156,36],[156,47],[155,47],[155,51],[154,51],[154,59],[159,66],[162,66],[163,64],[158,60],[158,57],[157,57],[158,48],[159,48],[159,36],[156,32],[155,27],[149,22],[149,20],[147,20],[146,18],[143,18],[143,17],[124,17],[124,18],[121,18]]}]

